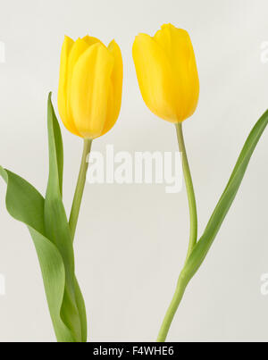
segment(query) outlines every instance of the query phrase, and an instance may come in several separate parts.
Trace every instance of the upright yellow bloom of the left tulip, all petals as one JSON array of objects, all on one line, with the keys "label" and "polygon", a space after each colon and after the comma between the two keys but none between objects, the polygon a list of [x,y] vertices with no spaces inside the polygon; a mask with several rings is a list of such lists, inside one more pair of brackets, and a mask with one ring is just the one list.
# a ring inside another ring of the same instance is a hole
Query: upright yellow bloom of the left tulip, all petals
[{"label": "upright yellow bloom of the left tulip, all petals", "polygon": [[81,138],[97,138],[113,128],[121,109],[122,59],[113,40],[105,46],[86,36],[64,38],[58,109],[65,127]]}]

